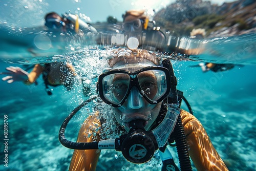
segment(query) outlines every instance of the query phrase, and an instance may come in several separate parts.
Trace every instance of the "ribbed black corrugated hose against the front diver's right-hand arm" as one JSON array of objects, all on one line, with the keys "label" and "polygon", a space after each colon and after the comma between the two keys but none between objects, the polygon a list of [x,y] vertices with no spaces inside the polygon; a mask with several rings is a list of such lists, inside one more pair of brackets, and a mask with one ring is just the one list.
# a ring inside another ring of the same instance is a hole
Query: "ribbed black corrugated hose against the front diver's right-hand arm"
[{"label": "ribbed black corrugated hose against the front diver's right-hand arm", "polygon": [[178,152],[181,171],[192,170],[189,154],[188,154],[188,146],[186,143],[186,136],[185,136],[180,114],[178,116],[178,120],[174,128],[174,136],[175,136],[176,148]]}]

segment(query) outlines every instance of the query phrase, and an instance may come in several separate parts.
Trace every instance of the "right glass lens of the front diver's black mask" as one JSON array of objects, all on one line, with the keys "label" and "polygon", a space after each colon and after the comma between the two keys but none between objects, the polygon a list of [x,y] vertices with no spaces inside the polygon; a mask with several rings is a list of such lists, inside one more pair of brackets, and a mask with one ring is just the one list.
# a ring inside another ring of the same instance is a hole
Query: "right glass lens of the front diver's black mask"
[{"label": "right glass lens of the front diver's black mask", "polygon": [[138,81],[144,95],[157,101],[167,91],[166,74],[161,70],[149,70],[138,74]]}]

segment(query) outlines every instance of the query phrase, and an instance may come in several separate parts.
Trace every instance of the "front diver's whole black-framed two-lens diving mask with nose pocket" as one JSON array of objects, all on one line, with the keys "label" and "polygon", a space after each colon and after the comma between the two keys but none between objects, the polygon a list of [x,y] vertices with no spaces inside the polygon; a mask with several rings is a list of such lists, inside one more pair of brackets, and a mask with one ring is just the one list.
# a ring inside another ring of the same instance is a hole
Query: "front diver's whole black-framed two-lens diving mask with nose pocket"
[{"label": "front diver's whole black-framed two-lens diving mask with nose pocket", "polygon": [[170,75],[164,67],[151,66],[138,71],[111,70],[99,76],[97,91],[100,98],[113,107],[120,107],[131,99],[134,109],[142,107],[142,97],[157,104],[170,92]]}]

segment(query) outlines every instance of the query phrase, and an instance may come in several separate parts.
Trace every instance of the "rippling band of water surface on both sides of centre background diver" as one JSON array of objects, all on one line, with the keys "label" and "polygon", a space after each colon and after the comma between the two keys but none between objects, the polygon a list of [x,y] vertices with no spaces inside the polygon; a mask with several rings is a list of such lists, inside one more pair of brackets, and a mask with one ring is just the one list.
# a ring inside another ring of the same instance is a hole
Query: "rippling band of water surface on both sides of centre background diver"
[{"label": "rippling band of water surface on both sides of centre background diver", "polygon": [[[104,50],[119,46],[125,47],[126,42],[123,39],[123,34],[118,29],[120,27],[116,26],[111,31],[99,33],[63,34],[38,31],[42,28],[22,29],[2,24],[0,25],[0,37],[2,39],[0,57],[4,61],[19,64],[87,58],[87,53],[90,54],[90,51],[103,53]],[[172,39],[172,37],[167,37],[167,39]],[[100,43],[97,43],[98,41]],[[160,54],[165,54],[165,57],[174,60],[256,65],[256,33],[209,39],[183,37],[180,38],[180,45],[177,49],[190,49],[191,54],[171,54],[170,52]],[[79,56],[80,54],[84,56]],[[97,54],[93,54],[90,57],[96,56]]]}]

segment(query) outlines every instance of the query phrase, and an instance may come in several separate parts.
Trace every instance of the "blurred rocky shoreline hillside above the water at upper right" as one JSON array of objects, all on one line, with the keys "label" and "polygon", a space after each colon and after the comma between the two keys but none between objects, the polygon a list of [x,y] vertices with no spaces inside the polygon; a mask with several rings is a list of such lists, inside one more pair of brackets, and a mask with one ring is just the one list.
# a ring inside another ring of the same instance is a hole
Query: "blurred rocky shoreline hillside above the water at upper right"
[{"label": "blurred rocky shoreline hillside above the water at upper right", "polygon": [[156,13],[157,26],[174,36],[205,29],[206,37],[256,33],[256,1],[239,0],[221,6],[202,0],[177,0]]}]

